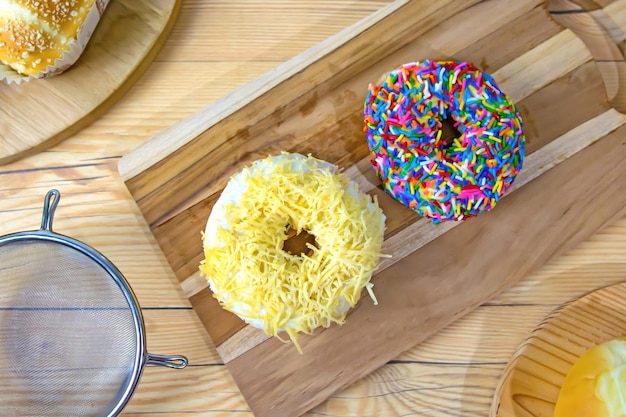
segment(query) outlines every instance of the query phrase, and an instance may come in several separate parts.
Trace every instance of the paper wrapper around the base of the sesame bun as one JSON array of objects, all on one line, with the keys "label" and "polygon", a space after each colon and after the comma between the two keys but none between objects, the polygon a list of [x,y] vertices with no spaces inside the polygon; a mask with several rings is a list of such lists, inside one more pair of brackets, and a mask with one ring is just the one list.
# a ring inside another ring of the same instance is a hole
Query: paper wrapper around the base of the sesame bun
[{"label": "paper wrapper around the base of the sesame bun", "polygon": [[0,81],[7,84],[21,84],[38,78],[54,77],[70,68],[78,61],[78,58],[87,47],[87,43],[96,29],[96,26],[98,26],[98,22],[109,4],[109,1],[110,0],[96,0],[94,2],[85,16],[85,21],[76,33],[76,39],[70,43],[69,49],[65,51],[60,58],[57,58],[53,64],[48,65],[45,70],[35,75],[22,75],[18,74],[8,65],[0,64]]}]

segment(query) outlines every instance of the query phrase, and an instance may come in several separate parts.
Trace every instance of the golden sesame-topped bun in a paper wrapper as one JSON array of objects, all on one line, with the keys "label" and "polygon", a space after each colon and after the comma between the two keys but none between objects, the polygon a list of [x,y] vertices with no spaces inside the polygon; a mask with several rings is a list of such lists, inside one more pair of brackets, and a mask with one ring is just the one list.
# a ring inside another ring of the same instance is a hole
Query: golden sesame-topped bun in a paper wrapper
[{"label": "golden sesame-topped bun in a paper wrapper", "polygon": [[0,62],[34,75],[67,51],[95,0],[0,0]]}]

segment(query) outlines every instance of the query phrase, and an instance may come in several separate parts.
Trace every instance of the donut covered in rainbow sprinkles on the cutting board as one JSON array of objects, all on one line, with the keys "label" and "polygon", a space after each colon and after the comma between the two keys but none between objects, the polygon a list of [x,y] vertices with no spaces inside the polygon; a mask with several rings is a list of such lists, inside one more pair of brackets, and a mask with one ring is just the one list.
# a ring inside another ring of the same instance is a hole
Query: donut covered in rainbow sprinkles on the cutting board
[{"label": "donut covered in rainbow sprinkles on the cutting board", "polygon": [[[472,64],[413,62],[370,85],[365,132],[385,191],[435,223],[491,210],[524,160],[522,119]],[[451,119],[461,134],[442,139]]]}]

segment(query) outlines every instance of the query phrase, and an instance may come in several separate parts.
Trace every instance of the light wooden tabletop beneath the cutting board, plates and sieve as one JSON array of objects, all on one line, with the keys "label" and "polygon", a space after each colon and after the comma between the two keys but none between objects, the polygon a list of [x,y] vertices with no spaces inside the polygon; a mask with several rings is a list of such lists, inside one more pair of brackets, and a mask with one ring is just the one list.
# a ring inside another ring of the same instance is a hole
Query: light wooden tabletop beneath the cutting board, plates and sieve
[{"label": "light wooden tabletop beneath the cutting board, plates and sieve", "polygon": [[[0,234],[38,228],[45,193],[59,189],[55,230],[95,247],[124,273],[142,305],[151,353],[189,358],[184,370],[146,368],[123,415],[252,413],[120,179],[119,159],[388,2],[183,0],[164,49],[119,103],[61,144],[0,166]],[[622,217],[307,416],[486,416],[511,355],[548,313],[625,280]]]}]

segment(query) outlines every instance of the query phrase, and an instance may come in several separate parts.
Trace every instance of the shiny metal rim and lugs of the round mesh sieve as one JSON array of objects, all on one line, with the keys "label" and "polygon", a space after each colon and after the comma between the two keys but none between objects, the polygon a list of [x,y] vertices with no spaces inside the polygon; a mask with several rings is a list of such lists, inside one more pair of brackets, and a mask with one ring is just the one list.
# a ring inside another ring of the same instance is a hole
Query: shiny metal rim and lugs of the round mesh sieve
[{"label": "shiny metal rim and lugs of the round mesh sieve", "polygon": [[111,277],[117,284],[128,303],[129,310],[133,317],[136,349],[132,363],[132,373],[127,379],[126,387],[120,387],[121,394],[118,396],[118,401],[106,415],[106,417],[115,417],[122,411],[132,397],[146,365],[158,365],[174,369],[183,369],[187,366],[188,360],[185,356],[181,355],[154,355],[148,353],[146,348],[146,332],[141,308],[139,307],[139,302],[126,278],[111,261],[91,246],[71,237],[56,233],[52,230],[52,221],[54,219],[54,213],[60,198],[61,193],[58,190],[52,189],[48,191],[44,199],[41,227],[39,230],[23,231],[1,236],[0,247],[10,243],[20,243],[27,240],[64,245],[86,255],[90,260],[96,262],[98,266],[104,269],[109,277]]}]

